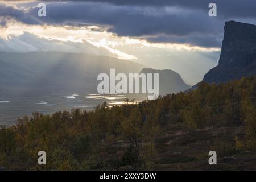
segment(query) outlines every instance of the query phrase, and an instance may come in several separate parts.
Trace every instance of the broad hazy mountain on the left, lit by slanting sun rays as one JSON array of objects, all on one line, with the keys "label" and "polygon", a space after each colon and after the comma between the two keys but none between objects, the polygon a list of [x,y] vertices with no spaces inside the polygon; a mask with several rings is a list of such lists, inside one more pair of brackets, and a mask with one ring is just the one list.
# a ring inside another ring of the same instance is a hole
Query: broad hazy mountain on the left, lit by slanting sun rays
[{"label": "broad hazy mountain on the left, lit by slanting sun rays", "polygon": [[108,56],[63,52],[0,52],[0,93],[97,92],[99,73],[138,73],[144,67]]}]

